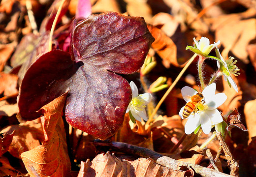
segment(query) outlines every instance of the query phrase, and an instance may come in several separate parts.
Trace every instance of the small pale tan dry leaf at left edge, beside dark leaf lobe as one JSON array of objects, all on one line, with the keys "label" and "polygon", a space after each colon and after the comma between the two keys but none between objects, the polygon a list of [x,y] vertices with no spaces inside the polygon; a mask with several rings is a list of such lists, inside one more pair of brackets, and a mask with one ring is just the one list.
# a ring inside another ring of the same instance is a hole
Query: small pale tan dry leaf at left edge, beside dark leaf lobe
[{"label": "small pale tan dry leaf at left edge, beside dark leaf lobe", "polygon": [[7,101],[0,101],[0,116],[8,116],[11,117],[14,114],[19,112],[19,108],[17,103],[9,104]]}]

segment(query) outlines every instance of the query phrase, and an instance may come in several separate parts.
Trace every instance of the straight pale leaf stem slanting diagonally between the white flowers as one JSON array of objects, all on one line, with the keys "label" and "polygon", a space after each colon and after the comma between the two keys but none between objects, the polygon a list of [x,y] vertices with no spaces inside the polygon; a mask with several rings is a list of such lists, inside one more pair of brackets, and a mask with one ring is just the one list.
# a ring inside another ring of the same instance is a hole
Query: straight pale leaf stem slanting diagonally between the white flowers
[{"label": "straight pale leaf stem slanting diagonally between the white flowers", "polygon": [[180,74],[177,76],[177,78],[175,79],[175,81],[172,83],[172,85],[169,87],[169,89],[164,93],[164,95],[162,96],[162,98],[160,99],[158,105],[156,106],[156,108],[154,109],[153,113],[151,114],[151,116],[149,117],[149,120],[147,121],[146,124],[149,124],[153,119],[154,116],[157,114],[157,111],[159,110],[161,104],[163,103],[163,101],[165,100],[165,98],[168,96],[168,94],[171,92],[171,90],[174,88],[174,86],[178,83],[178,81],[180,80],[181,76],[184,74],[184,72],[188,69],[188,67],[190,66],[190,64],[193,62],[193,60],[195,59],[195,57],[197,56],[197,54],[194,54],[192,56],[192,58],[187,62],[187,64],[184,66],[184,68],[181,70]]}]

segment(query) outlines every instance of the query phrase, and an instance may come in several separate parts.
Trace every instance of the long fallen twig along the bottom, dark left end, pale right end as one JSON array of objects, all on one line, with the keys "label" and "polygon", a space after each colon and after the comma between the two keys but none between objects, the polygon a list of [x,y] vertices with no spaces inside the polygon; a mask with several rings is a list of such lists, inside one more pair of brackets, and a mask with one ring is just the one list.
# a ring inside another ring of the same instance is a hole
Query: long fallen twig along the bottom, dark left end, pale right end
[{"label": "long fallen twig along the bottom, dark left end, pale right end", "polygon": [[142,148],[127,143],[96,140],[94,145],[97,149],[104,151],[114,150],[137,155],[144,158],[150,157],[153,159],[153,161],[155,161],[155,163],[167,168],[171,168],[173,170],[179,170],[181,167],[189,167],[192,168],[195,173],[203,177],[231,177],[230,175],[218,172],[214,169],[208,169],[200,165],[178,161],[170,157],[163,156],[160,153],[157,153],[148,148]]}]

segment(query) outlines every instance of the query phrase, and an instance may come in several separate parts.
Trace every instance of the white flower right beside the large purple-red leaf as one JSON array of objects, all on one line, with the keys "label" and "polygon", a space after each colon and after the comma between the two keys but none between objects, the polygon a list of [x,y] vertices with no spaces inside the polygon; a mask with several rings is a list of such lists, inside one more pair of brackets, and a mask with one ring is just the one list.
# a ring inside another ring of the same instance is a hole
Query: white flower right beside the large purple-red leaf
[{"label": "white flower right beside the large purple-red leaf", "polygon": [[143,118],[143,120],[147,121],[148,118],[145,110],[145,105],[150,103],[152,99],[151,93],[143,93],[138,95],[138,88],[132,81],[130,82],[130,88],[132,91],[132,99],[126,110],[126,113],[130,111],[131,115],[136,118],[136,120],[141,121],[141,118]]}]

